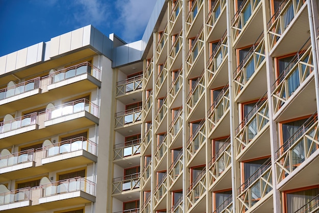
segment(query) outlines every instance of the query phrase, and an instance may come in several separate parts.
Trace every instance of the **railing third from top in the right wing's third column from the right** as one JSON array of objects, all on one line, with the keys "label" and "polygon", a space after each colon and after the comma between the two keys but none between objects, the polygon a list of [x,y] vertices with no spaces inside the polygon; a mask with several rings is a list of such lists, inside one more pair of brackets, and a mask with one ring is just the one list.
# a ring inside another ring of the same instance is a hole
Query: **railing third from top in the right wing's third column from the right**
[{"label": "railing third from top in the right wing's third column from the right", "polygon": [[229,109],[229,87],[226,85],[207,111],[208,130],[212,131]]}]

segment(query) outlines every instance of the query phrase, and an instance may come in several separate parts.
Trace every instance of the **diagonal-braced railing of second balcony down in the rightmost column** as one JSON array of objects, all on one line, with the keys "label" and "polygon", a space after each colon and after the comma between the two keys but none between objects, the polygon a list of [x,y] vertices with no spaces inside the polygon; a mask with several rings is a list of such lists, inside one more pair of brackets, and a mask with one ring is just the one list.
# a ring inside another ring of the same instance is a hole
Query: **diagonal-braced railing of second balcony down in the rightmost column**
[{"label": "diagonal-braced railing of second balcony down in the rightmost column", "polygon": [[293,95],[297,88],[305,82],[314,69],[310,39],[284,69],[273,85],[273,103],[276,113]]}]

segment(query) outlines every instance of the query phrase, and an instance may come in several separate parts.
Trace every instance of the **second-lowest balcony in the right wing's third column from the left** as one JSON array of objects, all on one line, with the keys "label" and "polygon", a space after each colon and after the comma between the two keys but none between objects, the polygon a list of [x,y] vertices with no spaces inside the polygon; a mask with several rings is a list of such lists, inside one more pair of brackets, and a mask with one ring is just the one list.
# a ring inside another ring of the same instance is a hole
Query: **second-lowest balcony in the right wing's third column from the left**
[{"label": "second-lowest balcony in the right wing's third column from the left", "polygon": [[175,191],[182,185],[183,151],[181,150],[173,160],[168,170],[170,191]]}]

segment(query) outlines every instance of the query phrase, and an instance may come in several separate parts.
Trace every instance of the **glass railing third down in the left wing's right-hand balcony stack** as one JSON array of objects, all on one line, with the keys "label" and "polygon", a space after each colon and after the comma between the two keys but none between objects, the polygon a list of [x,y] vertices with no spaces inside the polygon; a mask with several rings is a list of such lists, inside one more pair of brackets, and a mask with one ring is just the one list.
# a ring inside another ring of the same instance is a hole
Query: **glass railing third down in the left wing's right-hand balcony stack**
[{"label": "glass railing third down in the left wing's right-hand balcony stack", "polygon": [[47,145],[43,147],[43,157],[51,157],[56,155],[61,155],[65,153],[70,153],[78,150],[85,150],[93,155],[97,154],[97,145],[81,136],[75,137],[72,139],[60,141],[51,145]]}]

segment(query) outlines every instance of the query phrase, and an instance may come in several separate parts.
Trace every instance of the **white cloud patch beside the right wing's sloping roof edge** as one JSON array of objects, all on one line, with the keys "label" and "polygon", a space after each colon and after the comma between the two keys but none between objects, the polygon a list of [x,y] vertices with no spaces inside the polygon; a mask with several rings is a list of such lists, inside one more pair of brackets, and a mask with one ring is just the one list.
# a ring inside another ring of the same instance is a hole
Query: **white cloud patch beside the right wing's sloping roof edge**
[{"label": "white cloud patch beside the right wing's sloping roof edge", "polygon": [[135,41],[141,35],[150,15],[153,11],[156,0],[120,0],[116,2],[119,12],[117,22],[122,28],[122,37],[125,41]]}]

